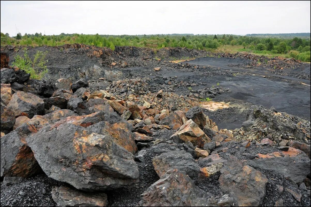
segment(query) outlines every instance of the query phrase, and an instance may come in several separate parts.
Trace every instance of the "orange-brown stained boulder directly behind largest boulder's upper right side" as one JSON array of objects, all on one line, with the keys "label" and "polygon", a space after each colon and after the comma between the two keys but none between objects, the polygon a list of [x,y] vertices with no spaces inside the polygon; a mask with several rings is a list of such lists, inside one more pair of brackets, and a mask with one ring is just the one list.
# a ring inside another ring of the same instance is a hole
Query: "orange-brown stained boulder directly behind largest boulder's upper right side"
[{"label": "orange-brown stained boulder directly behind largest boulder's upper right side", "polygon": [[129,129],[126,121],[120,121],[114,124],[109,124],[107,121],[101,121],[87,128],[97,134],[109,134],[114,138],[116,144],[127,149],[132,154],[135,154],[137,151],[134,134]]}]

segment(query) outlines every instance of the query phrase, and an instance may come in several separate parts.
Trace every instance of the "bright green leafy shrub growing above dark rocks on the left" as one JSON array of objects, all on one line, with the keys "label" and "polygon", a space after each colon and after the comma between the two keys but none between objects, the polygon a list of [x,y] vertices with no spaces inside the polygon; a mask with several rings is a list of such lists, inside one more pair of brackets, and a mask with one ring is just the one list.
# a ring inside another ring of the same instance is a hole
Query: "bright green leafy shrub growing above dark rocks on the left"
[{"label": "bright green leafy shrub growing above dark rocks on the left", "polygon": [[34,59],[31,60],[27,49],[24,49],[24,57],[20,55],[16,55],[13,66],[20,68],[21,70],[25,70],[26,73],[30,74],[30,78],[33,79],[42,79],[46,73],[48,73],[48,69],[46,67],[46,63],[48,60],[45,60],[47,52],[38,51],[34,55]]}]

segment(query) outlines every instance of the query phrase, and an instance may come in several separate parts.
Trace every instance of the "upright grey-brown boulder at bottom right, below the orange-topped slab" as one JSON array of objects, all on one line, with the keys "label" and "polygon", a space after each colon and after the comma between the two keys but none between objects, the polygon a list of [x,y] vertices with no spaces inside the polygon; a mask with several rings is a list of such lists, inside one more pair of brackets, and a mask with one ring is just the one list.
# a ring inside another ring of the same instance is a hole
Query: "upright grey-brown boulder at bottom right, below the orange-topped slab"
[{"label": "upright grey-brown boulder at bottom right, below the orange-topped slab", "polygon": [[258,170],[234,156],[230,156],[220,170],[219,186],[225,192],[230,192],[237,200],[238,206],[259,206],[266,196],[268,179]]}]

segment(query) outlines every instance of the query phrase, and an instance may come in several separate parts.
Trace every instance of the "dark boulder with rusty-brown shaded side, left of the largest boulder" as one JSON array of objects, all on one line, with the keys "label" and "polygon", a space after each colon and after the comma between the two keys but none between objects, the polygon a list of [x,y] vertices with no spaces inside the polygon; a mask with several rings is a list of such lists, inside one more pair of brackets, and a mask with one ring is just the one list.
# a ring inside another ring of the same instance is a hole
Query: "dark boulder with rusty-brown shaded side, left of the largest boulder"
[{"label": "dark boulder with rusty-brown shaded side, left of the largest boulder", "polygon": [[30,147],[26,144],[27,130],[16,129],[1,137],[1,177],[31,177],[41,172]]}]

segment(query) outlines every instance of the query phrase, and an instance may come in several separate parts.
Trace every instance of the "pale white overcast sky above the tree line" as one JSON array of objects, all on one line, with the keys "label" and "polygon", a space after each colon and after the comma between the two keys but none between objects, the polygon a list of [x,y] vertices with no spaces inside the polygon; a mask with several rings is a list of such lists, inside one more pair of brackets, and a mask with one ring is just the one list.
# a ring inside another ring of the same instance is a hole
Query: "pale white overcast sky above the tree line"
[{"label": "pale white overcast sky above the tree line", "polygon": [[310,1],[1,1],[1,32],[237,34],[310,32]]}]

